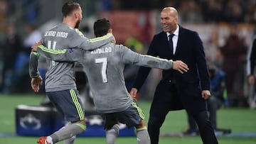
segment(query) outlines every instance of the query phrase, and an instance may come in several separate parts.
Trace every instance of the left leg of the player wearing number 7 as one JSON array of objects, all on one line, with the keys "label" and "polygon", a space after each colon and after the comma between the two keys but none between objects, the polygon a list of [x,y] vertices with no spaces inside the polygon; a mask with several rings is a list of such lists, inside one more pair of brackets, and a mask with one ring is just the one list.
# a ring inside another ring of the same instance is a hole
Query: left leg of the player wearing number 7
[{"label": "left leg of the player wearing number 7", "polygon": [[107,144],[114,144],[119,135],[119,122],[114,118],[114,113],[103,114]]}]

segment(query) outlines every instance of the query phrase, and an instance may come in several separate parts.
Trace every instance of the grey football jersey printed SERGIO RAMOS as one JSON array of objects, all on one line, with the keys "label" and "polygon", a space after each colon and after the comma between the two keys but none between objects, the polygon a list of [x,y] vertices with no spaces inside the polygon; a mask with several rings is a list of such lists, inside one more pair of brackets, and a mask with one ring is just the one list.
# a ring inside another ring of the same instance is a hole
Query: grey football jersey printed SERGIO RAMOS
[{"label": "grey football jersey printed SERGIO RAMOS", "polygon": [[[110,43],[114,37],[105,35],[100,38],[87,39],[76,28],[60,23],[49,31],[44,33],[42,41],[52,50],[62,50],[68,48],[82,48],[84,50],[92,50],[99,48],[106,43]],[[31,77],[38,77],[38,57],[36,52],[31,52],[29,63],[29,74]],[[76,89],[75,84],[75,62],[56,62],[47,60],[46,72],[46,92],[56,92],[66,89]]]}]

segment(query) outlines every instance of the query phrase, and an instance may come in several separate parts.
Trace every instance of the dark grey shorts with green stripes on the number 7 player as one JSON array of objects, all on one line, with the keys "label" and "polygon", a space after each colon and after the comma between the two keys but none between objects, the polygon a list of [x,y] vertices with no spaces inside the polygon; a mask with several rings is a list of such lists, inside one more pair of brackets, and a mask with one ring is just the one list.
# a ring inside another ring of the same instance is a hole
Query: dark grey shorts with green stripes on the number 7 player
[{"label": "dark grey shorts with green stripes on the number 7 player", "polygon": [[142,109],[140,109],[135,102],[132,102],[129,108],[124,111],[117,113],[104,113],[102,116],[105,120],[105,130],[110,130],[110,128],[117,123],[124,123],[128,128],[132,126],[139,126],[145,117]]}]

